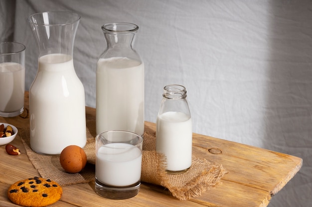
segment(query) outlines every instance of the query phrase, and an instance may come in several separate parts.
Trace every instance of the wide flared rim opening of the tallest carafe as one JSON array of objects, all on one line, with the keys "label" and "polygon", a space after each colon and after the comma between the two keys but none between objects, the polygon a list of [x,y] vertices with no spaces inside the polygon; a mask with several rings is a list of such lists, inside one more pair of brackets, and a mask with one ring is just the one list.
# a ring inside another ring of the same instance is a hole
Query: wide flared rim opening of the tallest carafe
[{"label": "wide flared rim opening of the tallest carafe", "polygon": [[42,26],[63,26],[80,20],[80,15],[70,11],[45,11],[28,17],[30,24]]}]

